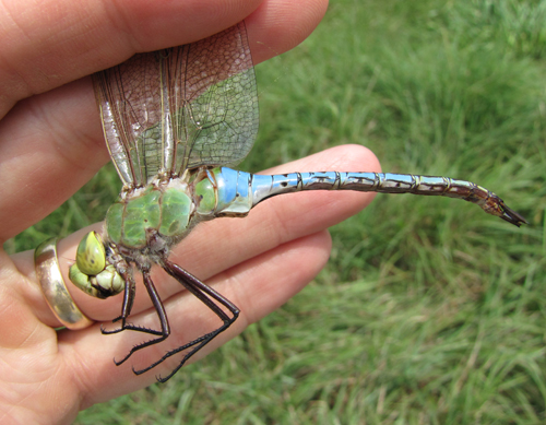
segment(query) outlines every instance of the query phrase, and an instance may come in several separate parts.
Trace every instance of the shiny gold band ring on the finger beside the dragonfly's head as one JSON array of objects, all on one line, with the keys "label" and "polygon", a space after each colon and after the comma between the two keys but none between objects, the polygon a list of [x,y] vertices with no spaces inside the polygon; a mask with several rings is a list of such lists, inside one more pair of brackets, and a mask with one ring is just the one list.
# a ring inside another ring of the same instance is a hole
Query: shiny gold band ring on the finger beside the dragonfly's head
[{"label": "shiny gold band ring on the finger beside the dragonfly's head", "polygon": [[70,330],[84,329],[93,324],[75,305],[62,279],[57,258],[57,238],[43,241],[34,251],[36,278],[55,317]]}]

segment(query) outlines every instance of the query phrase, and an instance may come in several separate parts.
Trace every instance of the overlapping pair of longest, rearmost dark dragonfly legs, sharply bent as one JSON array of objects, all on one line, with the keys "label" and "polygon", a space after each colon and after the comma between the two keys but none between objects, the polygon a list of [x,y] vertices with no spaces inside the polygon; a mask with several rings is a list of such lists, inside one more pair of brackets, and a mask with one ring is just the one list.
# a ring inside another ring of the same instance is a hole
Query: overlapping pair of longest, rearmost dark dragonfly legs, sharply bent
[{"label": "overlapping pair of longest, rearmost dark dragonfly legs, sharply bent", "polygon": [[[237,320],[239,317],[239,309],[227,298],[218,294],[216,291],[214,291],[212,287],[207,286],[203,282],[201,282],[199,279],[193,276],[191,273],[187,272],[183,270],[181,267],[168,261],[168,260],[163,260],[162,262],[163,268],[165,271],[170,274],[173,278],[175,278],[178,282],[180,282],[189,292],[191,292],[195,297],[198,297],[206,307],[209,307],[224,323],[215,329],[212,332],[209,332],[202,337],[199,337],[198,339],[179,346],[178,349],[174,349],[166,353],[162,358],[159,358],[157,362],[153,363],[149,367],[141,369],[141,370],[135,370],[133,368],[133,373],[135,375],[141,375],[144,374],[145,371],[154,368],[155,366],[159,365],[167,358],[174,356],[177,353],[180,353],[185,350],[192,349],[189,353],[187,353],[181,362],[178,364],[178,366],[170,371],[169,375],[167,375],[165,378],[162,378],[161,376],[157,376],[156,379],[159,382],[165,382],[173,375],[175,375],[183,365],[185,363],[198,351],[200,351],[203,346],[205,346],[209,342],[214,340],[219,333],[225,331],[232,323]],[[230,316],[227,315],[221,307],[219,305],[224,306],[227,308],[230,312]]]}]

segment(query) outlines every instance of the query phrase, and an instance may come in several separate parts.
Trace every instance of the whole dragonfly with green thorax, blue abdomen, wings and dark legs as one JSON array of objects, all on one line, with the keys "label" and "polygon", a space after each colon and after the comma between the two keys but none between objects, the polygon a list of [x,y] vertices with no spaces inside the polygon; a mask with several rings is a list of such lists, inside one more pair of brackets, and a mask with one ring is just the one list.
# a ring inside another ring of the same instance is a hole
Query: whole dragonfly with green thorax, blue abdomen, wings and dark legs
[{"label": "whole dragonfly with green thorax, blue abdomen, wings and dark legs", "polygon": [[[171,248],[201,222],[244,217],[258,203],[302,190],[356,190],[462,199],[520,226],[525,219],[489,190],[448,177],[392,173],[292,173],[252,175],[229,168],[250,152],[258,133],[256,75],[245,23],[209,38],[153,52],[93,75],[96,101],[111,161],[122,181],[102,234],[79,244],[70,280],[87,294],[106,298],[123,292],[118,327],[104,334],[138,331],[151,339],[123,358],[166,340],[167,312],[151,269],[159,265],[222,321],[213,331],[168,351],[144,374],[179,353],[165,382],[199,350],[225,331],[239,309],[215,290],[169,260]],[[135,272],[159,319],[161,329],[128,321]]]}]

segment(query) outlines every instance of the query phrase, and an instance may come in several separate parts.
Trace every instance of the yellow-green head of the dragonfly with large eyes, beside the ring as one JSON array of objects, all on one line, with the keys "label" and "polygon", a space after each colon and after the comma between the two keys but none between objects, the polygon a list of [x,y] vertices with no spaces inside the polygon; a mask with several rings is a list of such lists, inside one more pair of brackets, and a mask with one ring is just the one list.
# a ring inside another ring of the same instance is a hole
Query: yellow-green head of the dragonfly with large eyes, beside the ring
[{"label": "yellow-green head of the dragonfly with large eyes, beside the ring", "polygon": [[108,262],[106,246],[96,232],[90,232],[80,241],[69,278],[80,290],[97,298],[117,295],[124,287],[123,278]]}]

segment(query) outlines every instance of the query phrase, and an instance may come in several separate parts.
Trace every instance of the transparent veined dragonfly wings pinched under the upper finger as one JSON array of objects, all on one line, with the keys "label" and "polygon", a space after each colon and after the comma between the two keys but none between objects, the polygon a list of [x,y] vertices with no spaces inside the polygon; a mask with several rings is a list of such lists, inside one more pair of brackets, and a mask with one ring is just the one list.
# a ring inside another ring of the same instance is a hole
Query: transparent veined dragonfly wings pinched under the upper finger
[{"label": "transparent veined dragonfly wings pinched under the upper finger", "polygon": [[245,23],[135,55],[94,75],[105,139],[124,187],[241,161],[258,132]]}]

